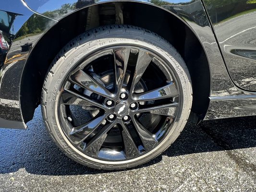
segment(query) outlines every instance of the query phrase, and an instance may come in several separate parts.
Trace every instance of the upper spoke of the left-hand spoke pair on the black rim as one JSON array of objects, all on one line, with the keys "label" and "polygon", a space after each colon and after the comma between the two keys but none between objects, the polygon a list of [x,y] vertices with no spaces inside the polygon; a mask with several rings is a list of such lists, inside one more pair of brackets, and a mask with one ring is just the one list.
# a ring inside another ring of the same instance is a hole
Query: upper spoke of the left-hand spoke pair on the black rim
[{"label": "upper spoke of the left-hand spoke pair on the black rim", "polygon": [[99,84],[95,79],[86,74],[82,69],[73,72],[70,75],[69,80],[72,83],[77,84],[101,96],[105,96],[107,98],[113,97],[113,94],[111,94],[108,89],[106,89],[102,84]]}]

